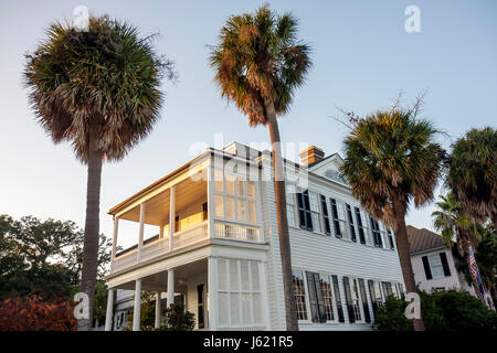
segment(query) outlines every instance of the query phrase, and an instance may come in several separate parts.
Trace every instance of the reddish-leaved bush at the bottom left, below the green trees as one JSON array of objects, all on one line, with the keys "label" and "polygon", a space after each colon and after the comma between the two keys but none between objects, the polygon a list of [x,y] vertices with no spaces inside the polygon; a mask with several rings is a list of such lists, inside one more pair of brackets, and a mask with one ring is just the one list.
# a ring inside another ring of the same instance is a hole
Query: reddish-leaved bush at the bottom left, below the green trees
[{"label": "reddish-leaved bush at the bottom left, below the green trees", "polygon": [[73,307],[41,297],[9,298],[0,303],[0,331],[75,331]]}]

